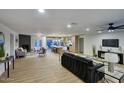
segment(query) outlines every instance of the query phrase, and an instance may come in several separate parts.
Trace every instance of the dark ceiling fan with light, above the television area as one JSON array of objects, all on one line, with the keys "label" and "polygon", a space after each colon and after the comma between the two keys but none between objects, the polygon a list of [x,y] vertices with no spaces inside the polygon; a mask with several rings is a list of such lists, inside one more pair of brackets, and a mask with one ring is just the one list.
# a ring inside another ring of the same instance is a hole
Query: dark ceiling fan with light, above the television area
[{"label": "dark ceiling fan with light, above the television area", "polygon": [[118,26],[114,26],[114,23],[109,23],[108,27],[100,27],[103,29],[97,30],[97,31],[104,31],[107,30],[108,32],[113,32],[116,29],[124,29],[124,25],[118,25]]}]

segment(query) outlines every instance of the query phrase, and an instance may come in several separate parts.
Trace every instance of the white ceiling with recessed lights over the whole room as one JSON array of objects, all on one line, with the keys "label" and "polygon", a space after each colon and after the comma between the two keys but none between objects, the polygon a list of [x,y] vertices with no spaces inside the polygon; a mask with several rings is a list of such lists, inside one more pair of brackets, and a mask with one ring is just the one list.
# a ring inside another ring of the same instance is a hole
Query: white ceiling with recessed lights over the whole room
[{"label": "white ceiling with recessed lights over the whole room", "polygon": [[[0,22],[18,33],[87,34],[110,22],[123,21],[124,10],[101,9],[46,9],[44,14],[36,9],[1,9]],[[72,28],[67,24],[77,23]],[[123,21],[124,23],[124,21]],[[87,32],[85,29],[90,28]]]}]

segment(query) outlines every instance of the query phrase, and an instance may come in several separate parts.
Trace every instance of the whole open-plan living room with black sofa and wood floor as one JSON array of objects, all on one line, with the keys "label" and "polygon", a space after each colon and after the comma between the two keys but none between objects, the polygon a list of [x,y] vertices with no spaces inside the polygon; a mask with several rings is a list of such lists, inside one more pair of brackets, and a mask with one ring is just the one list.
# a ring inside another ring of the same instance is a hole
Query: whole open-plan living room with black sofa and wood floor
[{"label": "whole open-plan living room with black sofa and wood floor", "polygon": [[[121,9],[1,9],[0,44],[5,52],[1,59],[11,56],[14,64],[12,60],[4,61],[10,67],[0,64],[0,82],[124,82],[123,12]],[[84,61],[92,66],[82,64]],[[104,65],[108,73],[100,72]]]}]

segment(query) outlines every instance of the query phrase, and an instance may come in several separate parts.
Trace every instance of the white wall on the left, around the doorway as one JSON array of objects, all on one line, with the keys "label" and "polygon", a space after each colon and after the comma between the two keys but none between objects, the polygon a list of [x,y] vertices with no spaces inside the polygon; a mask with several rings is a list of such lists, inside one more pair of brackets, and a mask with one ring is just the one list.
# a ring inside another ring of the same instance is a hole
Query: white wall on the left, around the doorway
[{"label": "white wall on the left, around the doorway", "polygon": [[[2,23],[0,23],[0,32],[4,33],[5,36],[5,45],[4,45],[4,49],[5,49],[5,53],[10,55],[10,33],[12,33],[14,35],[14,40],[15,40],[15,36],[17,35],[17,33],[8,28],[7,26],[3,25]],[[15,42],[14,42],[14,49],[16,48],[15,46]],[[4,64],[0,64],[0,75],[4,72]]]}]

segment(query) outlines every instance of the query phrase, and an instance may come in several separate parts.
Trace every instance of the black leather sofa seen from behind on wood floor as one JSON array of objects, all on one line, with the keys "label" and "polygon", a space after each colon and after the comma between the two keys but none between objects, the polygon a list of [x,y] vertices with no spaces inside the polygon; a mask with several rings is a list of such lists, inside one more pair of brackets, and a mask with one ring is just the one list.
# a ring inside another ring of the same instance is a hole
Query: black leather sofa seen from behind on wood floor
[{"label": "black leather sofa seen from behind on wood floor", "polygon": [[94,65],[92,60],[71,53],[63,53],[61,64],[87,83],[95,83],[104,77],[103,73],[97,71],[103,64]]}]

